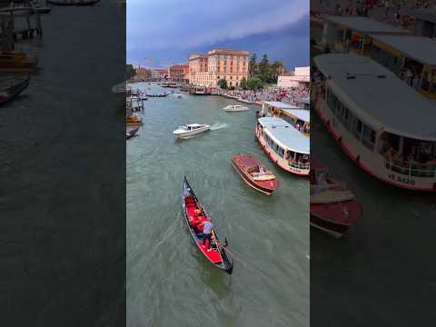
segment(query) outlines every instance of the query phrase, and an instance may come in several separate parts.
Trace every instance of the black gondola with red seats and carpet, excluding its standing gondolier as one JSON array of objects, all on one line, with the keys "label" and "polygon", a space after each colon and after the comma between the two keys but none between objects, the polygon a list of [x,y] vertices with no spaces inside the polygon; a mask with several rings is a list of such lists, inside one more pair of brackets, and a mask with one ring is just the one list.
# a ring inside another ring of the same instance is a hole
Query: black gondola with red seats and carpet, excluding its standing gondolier
[{"label": "black gondola with red seats and carpet, excluding its standing gondolier", "polygon": [[203,206],[195,196],[195,193],[193,193],[193,189],[186,180],[186,176],[183,178],[182,205],[184,220],[189,233],[193,236],[193,242],[200,252],[203,253],[216,268],[232,274],[233,260],[232,262],[229,260],[226,250],[224,249],[225,246],[227,246],[227,240],[225,240],[224,244],[221,243],[218,236],[216,236],[214,228],[212,230],[211,244],[209,245],[211,251],[208,251],[207,246],[203,246],[203,233],[197,229],[197,226],[201,224],[201,222],[210,219],[210,216],[205,212]]}]

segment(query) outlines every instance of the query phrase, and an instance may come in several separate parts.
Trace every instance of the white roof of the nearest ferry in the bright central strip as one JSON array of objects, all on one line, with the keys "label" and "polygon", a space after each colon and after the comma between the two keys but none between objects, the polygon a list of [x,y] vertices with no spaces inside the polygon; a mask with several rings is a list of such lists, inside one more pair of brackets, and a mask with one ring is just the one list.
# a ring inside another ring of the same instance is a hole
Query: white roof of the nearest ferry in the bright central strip
[{"label": "white roof of the nearest ferry in the bright central strip", "polygon": [[310,154],[311,139],[296,130],[292,124],[277,117],[262,117],[258,119],[263,129],[268,131],[269,136],[283,149],[299,154]]}]

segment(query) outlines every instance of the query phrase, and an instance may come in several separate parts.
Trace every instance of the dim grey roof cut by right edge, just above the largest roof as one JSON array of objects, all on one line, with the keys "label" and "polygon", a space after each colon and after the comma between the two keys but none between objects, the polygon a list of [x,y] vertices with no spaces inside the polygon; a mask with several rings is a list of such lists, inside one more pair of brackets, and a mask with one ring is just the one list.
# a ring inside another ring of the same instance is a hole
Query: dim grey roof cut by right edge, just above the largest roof
[{"label": "dim grey roof cut by right edge, just above the largest roof", "polygon": [[372,37],[421,63],[436,65],[436,41],[430,37],[409,35],[372,35]]}]

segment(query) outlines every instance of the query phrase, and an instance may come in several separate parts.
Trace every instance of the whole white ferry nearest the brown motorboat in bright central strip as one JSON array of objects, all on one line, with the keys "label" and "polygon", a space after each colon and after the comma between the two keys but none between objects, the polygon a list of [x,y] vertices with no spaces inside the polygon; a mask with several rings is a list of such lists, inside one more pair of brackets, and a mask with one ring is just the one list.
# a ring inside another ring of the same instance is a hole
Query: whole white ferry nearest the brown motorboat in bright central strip
[{"label": "whole white ferry nearest the brown motorboat in bright central strip", "polygon": [[261,117],[256,138],[273,163],[298,175],[310,172],[310,138],[278,117]]}]

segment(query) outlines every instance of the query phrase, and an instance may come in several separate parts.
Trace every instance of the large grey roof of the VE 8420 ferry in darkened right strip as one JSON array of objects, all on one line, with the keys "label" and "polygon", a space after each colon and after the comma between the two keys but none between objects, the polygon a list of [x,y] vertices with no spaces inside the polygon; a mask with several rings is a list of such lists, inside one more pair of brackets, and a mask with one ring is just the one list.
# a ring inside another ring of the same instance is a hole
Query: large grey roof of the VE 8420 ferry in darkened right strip
[{"label": "large grey roof of the VE 8420 ferry in darkened right strip", "polygon": [[334,94],[365,124],[436,141],[434,104],[381,64],[356,54],[322,54],[314,62]]}]

